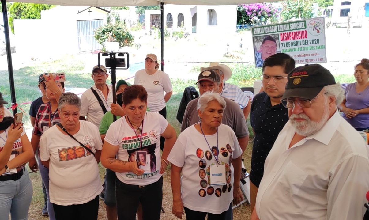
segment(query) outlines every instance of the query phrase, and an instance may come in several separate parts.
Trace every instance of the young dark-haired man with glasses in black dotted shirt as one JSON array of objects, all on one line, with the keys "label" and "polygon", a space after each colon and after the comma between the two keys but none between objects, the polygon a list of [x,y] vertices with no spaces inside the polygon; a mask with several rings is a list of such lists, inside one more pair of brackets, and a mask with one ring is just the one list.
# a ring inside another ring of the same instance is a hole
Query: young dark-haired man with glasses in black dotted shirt
[{"label": "young dark-haired man with glasses in black dotted shirt", "polygon": [[287,108],[281,104],[280,99],[287,83],[288,72],[293,68],[295,61],[287,54],[278,53],[266,58],[261,76],[264,92],[256,94],[252,100],[250,118],[255,139],[250,172],[251,210],[254,210],[265,159],[288,121]]}]

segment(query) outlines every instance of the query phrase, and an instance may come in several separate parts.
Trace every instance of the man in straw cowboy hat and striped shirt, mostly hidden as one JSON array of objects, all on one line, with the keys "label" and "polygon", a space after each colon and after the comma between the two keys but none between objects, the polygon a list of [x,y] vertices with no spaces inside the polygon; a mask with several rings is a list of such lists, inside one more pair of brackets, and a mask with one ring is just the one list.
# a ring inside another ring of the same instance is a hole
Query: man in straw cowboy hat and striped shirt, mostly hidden
[{"label": "man in straw cowboy hat and striped shirt, mostly hidden", "polygon": [[246,96],[245,93],[242,92],[242,90],[238,86],[225,82],[232,76],[231,69],[227,65],[219,64],[218,62],[211,62],[209,67],[200,68],[201,72],[205,70],[213,70],[220,75],[220,83],[222,85],[220,94],[239,104],[239,106],[241,106],[243,109],[242,111],[244,113],[245,119],[247,119],[251,110],[251,103],[249,102],[249,98]]}]

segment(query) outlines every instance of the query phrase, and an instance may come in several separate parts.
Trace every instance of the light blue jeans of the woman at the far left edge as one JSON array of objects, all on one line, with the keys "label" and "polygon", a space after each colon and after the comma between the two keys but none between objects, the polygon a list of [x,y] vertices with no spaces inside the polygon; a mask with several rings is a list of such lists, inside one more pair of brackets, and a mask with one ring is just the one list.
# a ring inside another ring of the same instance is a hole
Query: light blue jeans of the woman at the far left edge
[{"label": "light blue jeans of the woman at the far left edge", "polygon": [[27,170],[16,181],[0,181],[0,220],[27,220],[32,200],[32,183]]}]

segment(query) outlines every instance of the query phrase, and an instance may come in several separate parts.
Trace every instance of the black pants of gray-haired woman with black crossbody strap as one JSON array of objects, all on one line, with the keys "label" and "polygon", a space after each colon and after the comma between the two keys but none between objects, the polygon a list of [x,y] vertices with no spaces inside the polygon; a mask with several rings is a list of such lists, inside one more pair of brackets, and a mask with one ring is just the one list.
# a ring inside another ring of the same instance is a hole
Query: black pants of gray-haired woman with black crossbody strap
[{"label": "black pants of gray-haired woman with black crossbody strap", "polygon": [[78,205],[61,206],[52,204],[56,220],[97,220],[99,213],[99,196],[90,202]]}]

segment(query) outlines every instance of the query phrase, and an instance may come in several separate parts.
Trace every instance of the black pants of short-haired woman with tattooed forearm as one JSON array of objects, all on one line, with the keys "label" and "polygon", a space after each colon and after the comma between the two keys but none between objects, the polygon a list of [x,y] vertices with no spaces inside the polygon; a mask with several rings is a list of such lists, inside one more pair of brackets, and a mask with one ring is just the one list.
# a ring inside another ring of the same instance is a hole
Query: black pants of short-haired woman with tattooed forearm
[{"label": "black pants of short-haired woman with tattooed forearm", "polygon": [[115,176],[118,220],[135,220],[138,204],[143,220],[159,220],[163,200],[163,178],[145,187],[121,182]]}]

